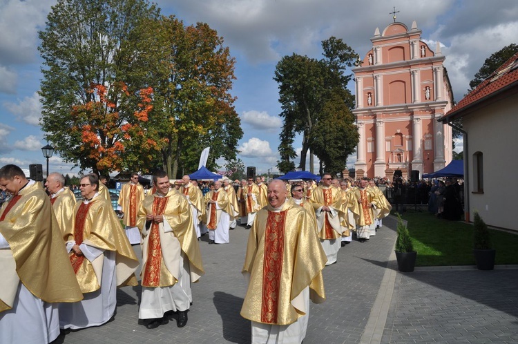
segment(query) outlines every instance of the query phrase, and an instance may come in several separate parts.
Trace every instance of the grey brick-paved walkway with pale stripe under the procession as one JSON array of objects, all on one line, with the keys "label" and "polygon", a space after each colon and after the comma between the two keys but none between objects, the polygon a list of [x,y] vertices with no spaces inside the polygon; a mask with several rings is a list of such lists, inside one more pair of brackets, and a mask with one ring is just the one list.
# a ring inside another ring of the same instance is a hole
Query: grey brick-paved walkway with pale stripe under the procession
[{"label": "grey brick-paved walkway with pale stripe under the procession", "polygon": [[[311,303],[305,344],[516,343],[518,270],[416,269],[396,272],[394,218],[365,243],[340,249],[323,271],[327,300]],[[55,343],[249,343],[239,312],[246,289],[240,271],[249,231],[238,226],[227,245],[200,248],[206,274],[193,285],[186,327],[138,323],[140,287],[117,292],[117,315],[101,327],[70,332]],[[135,246],[140,256],[140,247]]]}]

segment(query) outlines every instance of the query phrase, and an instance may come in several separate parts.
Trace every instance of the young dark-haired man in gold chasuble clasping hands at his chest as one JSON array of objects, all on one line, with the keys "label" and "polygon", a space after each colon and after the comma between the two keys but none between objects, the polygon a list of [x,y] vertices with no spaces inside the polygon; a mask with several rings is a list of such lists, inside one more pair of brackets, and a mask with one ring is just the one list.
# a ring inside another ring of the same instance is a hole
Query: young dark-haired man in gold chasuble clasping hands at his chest
[{"label": "young dark-haired man in gold chasuble clasping hands at his chest", "polygon": [[189,202],[170,189],[165,171],[155,172],[153,182],[157,192],[144,199],[137,220],[144,238],[139,318],[153,329],[178,312],[177,325],[183,327],[193,301],[191,283],[204,274],[200,246]]}]

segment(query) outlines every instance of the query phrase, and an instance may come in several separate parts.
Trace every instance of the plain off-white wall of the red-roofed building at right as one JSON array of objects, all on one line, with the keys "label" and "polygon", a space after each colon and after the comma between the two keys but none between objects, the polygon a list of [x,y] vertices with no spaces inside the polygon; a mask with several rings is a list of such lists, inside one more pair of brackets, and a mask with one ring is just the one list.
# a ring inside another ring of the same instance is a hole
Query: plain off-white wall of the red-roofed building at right
[{"label": "plain off-white wall of the red-roofed building at right", "polygon": [[[477,109],[463,117],[468,133],[470,220],[478,211],[495,227],[518,229],[515,200],[518,187],[518,95]],[[474,191],[473,154],[483,153],[483,193]],[[466,155],[465,155],[466,157]]]}]

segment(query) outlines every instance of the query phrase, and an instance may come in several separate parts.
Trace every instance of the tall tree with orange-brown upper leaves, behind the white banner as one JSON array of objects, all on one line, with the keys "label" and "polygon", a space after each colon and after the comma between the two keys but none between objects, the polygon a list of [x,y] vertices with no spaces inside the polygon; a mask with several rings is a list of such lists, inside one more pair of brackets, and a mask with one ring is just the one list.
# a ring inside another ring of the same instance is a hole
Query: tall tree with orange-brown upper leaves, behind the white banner
[{"label": "tall tree with orange-brown upper leaves, behind the white banner", "polygon": [[162,165],[171,178],[195,171],[201,151],[211,147],[207,167],[215,160],[236,158],[242,137],[240,119],[230,94],[235,59],[222,37],[207,23],[184,26],[175,17],[144,23],[135,51],[145,51],[153,87],[153,131],[162,137]]}]

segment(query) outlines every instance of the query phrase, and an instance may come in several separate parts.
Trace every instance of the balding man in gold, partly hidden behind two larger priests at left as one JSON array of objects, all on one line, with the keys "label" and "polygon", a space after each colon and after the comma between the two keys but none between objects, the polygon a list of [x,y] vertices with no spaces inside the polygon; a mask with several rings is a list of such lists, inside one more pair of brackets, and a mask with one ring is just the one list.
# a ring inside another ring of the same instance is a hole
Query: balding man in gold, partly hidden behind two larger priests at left
[{"label": "balding man in gold, partly hidden behind two larger priests at left", "polygon": [[59,224],[59,229],[61,229],[61,233],[64,235],[74,225],[75,195],[68,187],[65,187],[65,178],[61,173],[50,173],[45,186],[50,193],[50,203]]}]

